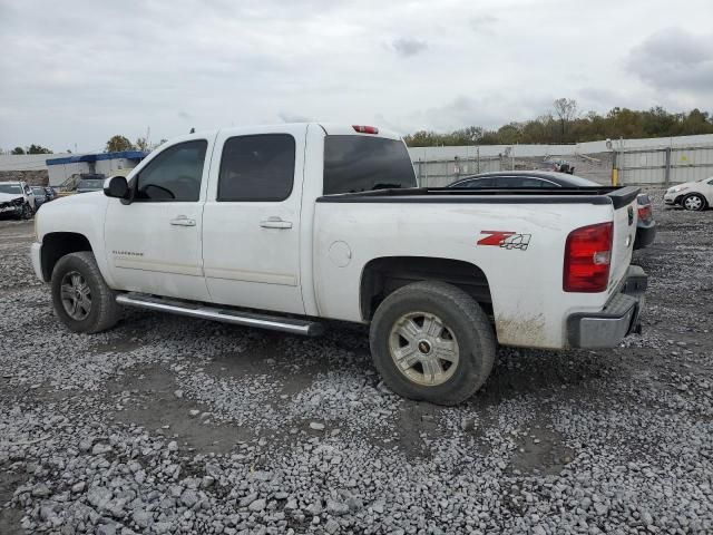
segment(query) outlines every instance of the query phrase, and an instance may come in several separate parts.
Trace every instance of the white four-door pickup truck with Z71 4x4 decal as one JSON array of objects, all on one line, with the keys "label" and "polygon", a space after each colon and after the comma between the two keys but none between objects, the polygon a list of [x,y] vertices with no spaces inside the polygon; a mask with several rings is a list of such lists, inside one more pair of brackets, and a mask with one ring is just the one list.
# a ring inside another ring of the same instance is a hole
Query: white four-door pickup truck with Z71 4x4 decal
[{"label": "white four-door pickup truck with Z71 4x4 decal", "polygon": [[496,341],[606,348],[637,328],[637,193],[419,188],[403,142],[374,127],[227,128],[49,204],[31,256],[72,331],[123,307],[309,335],[364,323],[392,390],[451,405],[486,381]]}]

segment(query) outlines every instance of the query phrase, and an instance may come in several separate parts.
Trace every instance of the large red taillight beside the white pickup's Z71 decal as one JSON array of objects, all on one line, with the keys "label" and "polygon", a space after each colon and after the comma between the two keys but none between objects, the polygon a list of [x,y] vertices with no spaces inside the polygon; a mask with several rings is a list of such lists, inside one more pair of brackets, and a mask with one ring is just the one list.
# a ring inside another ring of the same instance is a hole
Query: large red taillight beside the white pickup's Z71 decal
[{"label": "large red taillight beside the white pickup's Z71 decal", "polygon": [[596,225],[576,228],[567,236],[565,244],[565,292],[603,292],[609,282],[612,263],[612,239],[614,225]]}]

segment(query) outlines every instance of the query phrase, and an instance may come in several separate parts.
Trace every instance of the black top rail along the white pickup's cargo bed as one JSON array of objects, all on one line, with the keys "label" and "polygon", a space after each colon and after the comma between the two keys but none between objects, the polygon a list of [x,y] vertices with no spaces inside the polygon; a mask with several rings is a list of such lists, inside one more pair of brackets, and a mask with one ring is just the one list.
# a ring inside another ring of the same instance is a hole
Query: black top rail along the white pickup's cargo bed
[{"label": "black top rail along the white pickup's cargo bed", "polygon": [[466,203],[466,204],[612,204],[615,210],[636,198],[633,186],[558,188],[411,187],[372,189],[318,197],[318,203]]}]

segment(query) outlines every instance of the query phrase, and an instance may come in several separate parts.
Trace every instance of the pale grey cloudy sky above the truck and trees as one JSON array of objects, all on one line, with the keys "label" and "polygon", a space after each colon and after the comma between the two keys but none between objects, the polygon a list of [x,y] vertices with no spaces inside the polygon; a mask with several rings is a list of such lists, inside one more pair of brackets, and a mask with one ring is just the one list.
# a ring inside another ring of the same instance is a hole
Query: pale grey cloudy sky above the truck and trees
[{"label": "pale grey cloudy sky above the truck and trees", "polygon": [[0,147],[228,125],[713,111],[711,0],[0,0]]}]

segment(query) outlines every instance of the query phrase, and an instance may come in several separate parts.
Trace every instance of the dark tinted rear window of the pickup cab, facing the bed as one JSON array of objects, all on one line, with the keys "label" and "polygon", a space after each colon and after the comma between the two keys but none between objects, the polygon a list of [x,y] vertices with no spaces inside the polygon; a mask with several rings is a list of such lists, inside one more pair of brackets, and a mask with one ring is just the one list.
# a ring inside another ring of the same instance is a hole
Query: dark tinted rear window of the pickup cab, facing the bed
[{"label": "dark tinted rear window of the pickup cab, facing the bed", "polygon": [[403,142],[383,137],[326,136],[324,194],[416,187]]}]

